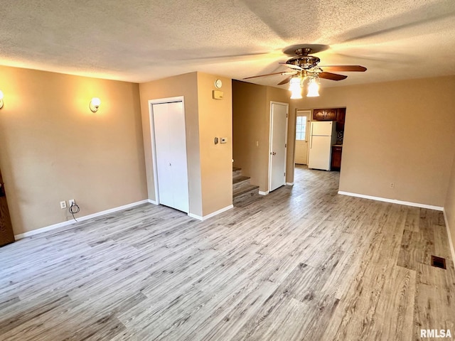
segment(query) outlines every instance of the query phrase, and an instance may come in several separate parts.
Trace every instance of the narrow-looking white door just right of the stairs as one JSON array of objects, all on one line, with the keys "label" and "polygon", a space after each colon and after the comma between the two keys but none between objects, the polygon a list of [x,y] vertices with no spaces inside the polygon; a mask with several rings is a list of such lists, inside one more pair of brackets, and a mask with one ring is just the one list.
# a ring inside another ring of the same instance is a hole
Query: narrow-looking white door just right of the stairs
[{"label": "narrow-looking white door just right of the stairs", "polygon": [[286,103],[270,104],[269,191],[286,184],[288,107]]}]

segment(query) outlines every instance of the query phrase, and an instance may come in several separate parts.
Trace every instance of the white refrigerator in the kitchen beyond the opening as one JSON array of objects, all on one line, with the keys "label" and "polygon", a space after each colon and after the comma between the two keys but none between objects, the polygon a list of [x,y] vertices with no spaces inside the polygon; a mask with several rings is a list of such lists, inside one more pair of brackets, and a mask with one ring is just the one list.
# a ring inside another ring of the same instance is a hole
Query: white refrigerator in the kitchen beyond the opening
[{"label": "white refrigerator in the kitchen beyond the opening", "polygon": [[335,121],[312,121],[308,168],[330,171],[332,145],[336,143]]}]

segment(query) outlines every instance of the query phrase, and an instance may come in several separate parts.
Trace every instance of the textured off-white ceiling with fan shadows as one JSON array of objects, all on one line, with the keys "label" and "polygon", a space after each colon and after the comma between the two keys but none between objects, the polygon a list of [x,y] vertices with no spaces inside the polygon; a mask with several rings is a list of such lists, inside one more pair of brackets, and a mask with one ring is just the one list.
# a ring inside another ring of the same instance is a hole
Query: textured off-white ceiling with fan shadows
[{"label": "textured off-white ceiling with fan shadows", "polygon": [[[290,46],[363,65],[349,85],[455,75],[454,0],[0,0],[0,64],[146,82],[286,71]],[[343,73],[343,72],[340,72]],[[251,80],[277,85],[283,76]],[[1,82],[1,75],[0,75]]]}]

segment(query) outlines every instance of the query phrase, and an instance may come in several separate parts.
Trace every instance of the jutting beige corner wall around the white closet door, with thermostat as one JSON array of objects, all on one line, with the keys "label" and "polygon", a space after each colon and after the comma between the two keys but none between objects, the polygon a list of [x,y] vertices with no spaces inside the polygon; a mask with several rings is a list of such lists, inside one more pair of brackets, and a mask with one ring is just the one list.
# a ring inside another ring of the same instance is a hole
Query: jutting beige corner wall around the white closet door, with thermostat
[{"label": "jutting beige corner wall around the white closet door, with thermostat", "polygon": [[[223,81],[221,90],[225,94],[224,99],[212,99],[212,90],[215,90],[214,82],[217,78]],[[155,200],[155,189],[151,158],[149,100],[183,96],[190,213],[202,217],[232,205],[230,82],[228,78],[191,72],[139,85],[147,185],[151,200]],[[228,137],[228,144],[215,146],[213,138],[217,135]],[[218,185],[214,185],[216,178],[219,180]]]}]

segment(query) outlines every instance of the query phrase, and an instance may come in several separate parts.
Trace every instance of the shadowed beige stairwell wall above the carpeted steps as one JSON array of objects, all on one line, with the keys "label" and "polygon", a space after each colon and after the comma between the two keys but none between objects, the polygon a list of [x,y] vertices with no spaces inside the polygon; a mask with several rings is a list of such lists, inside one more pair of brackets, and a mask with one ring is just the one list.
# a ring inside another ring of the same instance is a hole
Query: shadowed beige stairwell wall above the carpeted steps
[{"label": "shadowed beige stairwell wall above the carpeted steps", "polygon": [[267,192],[270,102],[289,103],[289,92],[237,80],[232,81],[232,92],[234,166],[242,168],[242,174],[259,185],[259,190]]}]

